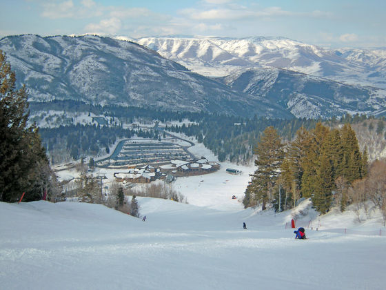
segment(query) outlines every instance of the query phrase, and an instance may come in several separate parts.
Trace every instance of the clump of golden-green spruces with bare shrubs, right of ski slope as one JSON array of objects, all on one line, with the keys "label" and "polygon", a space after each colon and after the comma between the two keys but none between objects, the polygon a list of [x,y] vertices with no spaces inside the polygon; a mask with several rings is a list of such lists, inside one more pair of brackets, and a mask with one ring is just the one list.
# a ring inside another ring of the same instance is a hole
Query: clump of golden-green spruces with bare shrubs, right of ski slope
[{"label": "clump of golden-green spruces with bare shrubs, right of ski slope", "polygon": [[[362,203],[368,200],[363,197],[363,184],[374,184],[377,180],[375,183],[379,186],[382,180],[374,169],[383,168],[381,165],[372,165],[369,173],[367,151],[360,152],[350,124],[329,128],[318,123],[309,131],[301,127],[294,141],[286,143],[278,131],[269,126],[254,153],[257,169],[245,191],[245,207],[261,205],[266,209],[270,204],[276,211],[283,211],[296,206],[300,198],[310,198],[322,214],[332,206],[344,211],[360,198]],[[377,186],[373,187],[374,204],[378,200],[376,206],[384,211],[385,185],[378,191]]]}]

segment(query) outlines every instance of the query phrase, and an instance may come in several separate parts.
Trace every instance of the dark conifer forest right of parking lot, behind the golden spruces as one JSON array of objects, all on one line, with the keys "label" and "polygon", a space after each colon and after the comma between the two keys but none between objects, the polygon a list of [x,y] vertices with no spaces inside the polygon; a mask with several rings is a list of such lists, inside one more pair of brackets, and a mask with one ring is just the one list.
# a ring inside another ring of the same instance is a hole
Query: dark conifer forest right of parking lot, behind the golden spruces
[{"label": "dark conifer forest right of parking lot, behind the golden spruces", "polygon": [[[219,158],[220,162],[230,161],[234,163],[248,163],[253,158],[254,146],[261,138],[261,133],[268,126],[273,126],[284,141],[294,139],[299,128],[307,130],[315,128],[316,124],[323,124],[331,127],[343,126],[343,124],[358,124],[368,119],[374,119],[366,115],[343,115],[329,120],[321,119],[266,119],[265,117],[254,117],[251,119],[226,116],[226,115],[205,115],[199,122],[190,125],[167,126],[165,130],[176,133],[184,133],[187,136],[196,137],[198,142],[202,142],[205,147]],[[385,118],[380,117],[376,128],[369,122],[369,130],[376,131],[377,134],[383,133],[385,128]],[[386,139],[386,132],[385,132]]]}]

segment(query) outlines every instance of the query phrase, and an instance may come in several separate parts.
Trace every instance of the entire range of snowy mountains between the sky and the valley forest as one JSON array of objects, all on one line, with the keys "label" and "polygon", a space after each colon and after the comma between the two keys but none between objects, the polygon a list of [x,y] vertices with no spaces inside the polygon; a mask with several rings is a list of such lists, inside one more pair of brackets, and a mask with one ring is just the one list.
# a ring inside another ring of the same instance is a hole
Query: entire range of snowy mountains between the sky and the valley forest
[{"label": "entire range of snowy mountains between the sky and the valley forest", "polygon": [[386,50],[325,50],[266,37],[136,41],[150,49],[91,35],[4,37],[0,49],[31,101],[77,99],[244,117],[329,118],[386,111]]}]

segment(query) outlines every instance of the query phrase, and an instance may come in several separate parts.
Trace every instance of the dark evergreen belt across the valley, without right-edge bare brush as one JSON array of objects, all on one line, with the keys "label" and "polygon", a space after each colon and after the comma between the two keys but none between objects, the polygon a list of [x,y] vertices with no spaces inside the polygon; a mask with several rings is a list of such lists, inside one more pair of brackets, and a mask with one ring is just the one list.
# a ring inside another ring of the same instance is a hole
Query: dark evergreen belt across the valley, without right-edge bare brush
[{"label": "dark evergreen belt across the valley, without right-edge bare brush", "polygon": [[[101,119],[110,120],[108,124],[98,122],[96,124],[77,125],[70,121],[69,126],[57,128],[41,128],[40,134],[43,144],[54,163],[62,162],[65,155],[74,159],[80,156],[98,155],[108,153],[108,147],[116,142],[117,138],[138,135],[145,138],[159,139],[162,133],[157,130],[148,131],[130,130],[123,128],[122,124],[134,122],[160,122],[179,121],[188,119],[192,124],[181,126],[166,126],[165,131],[184,133],[190,137],[196,137],[199,142],[210,148],[219,161],[230,160],[231,162],[249,162],[253,157],[253,148],[256,146],[261,133],[267,126],[274,126],[283,139],[293,139],[296,131],[301,126],[310,130],[316,126],[318,119],[267,119],[267,118],[244,118],[229,115],[174,112],[166,110],[154,110],[152,108],[122,107],[122,106],[92,106],[83,101],[51,101],[48,103],[30,102],[31,113],[49,110],[65,112],[83,112],[103,116]],[[94,117],[97,118],[97,117]],[[325,121],[328,126],[338,124],[355,124],[364,122],[365,115],[345,115],[341,119],[332,118]],[[383,122],[384,118],[380,118]],[[96,121],[98,121],[96,119]],[[35,120],[36,122],[36,120]],[[194,124],[193,124],[194,123]]]}]

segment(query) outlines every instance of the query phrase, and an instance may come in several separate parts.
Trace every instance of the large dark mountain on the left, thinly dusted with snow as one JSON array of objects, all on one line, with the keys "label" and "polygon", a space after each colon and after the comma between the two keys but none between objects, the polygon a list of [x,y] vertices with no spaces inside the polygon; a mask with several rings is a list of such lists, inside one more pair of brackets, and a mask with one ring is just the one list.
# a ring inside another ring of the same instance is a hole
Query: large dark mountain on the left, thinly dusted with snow
[{"label": "large dark mountain on the left, thinly dusted with snow", "polygon": [[79,99],[102,105],[292,116],[261,97],[235,92],[130,41],[21,35],[4,37],[0,49],[18,85],[26,84],[30,101]]}]

